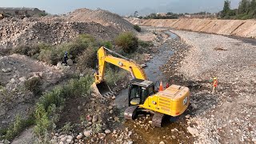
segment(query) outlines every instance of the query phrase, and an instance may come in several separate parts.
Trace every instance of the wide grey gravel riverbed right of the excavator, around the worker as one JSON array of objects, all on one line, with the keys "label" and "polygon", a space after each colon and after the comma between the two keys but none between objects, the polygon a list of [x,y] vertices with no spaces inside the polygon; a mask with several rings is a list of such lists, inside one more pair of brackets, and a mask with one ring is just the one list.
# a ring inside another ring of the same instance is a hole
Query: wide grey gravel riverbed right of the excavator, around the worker
[{"label": "wide grey gravel riverbed right of the excavator, around the worker", "polygon": [[[178,73],[204,87],[191,94],[194,110],[188,131],[194,134],[194,143],[256,143],[255,43],[172,31],[191,46]],[[211,76],[218,77],[217,94],[210,94]]]}]

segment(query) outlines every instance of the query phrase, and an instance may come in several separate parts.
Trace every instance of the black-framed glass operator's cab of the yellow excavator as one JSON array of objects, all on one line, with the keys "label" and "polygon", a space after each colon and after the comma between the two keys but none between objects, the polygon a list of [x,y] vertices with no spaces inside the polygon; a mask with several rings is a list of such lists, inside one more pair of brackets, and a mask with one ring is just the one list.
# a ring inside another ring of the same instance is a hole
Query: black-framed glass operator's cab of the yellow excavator
[{"label": "black-framed glass operator's cab of the yellow excavator", "polygon": [[129,106],[143,104],[146,98],[154,94],[154,82],[133,79],[129,85]]}]

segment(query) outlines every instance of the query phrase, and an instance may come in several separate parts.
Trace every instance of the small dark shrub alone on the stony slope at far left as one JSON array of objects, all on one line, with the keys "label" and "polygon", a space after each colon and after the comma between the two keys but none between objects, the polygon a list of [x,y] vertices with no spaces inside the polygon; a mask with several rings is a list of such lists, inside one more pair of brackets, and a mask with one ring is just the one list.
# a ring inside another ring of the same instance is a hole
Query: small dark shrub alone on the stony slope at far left
[{"label": "small dark shrub alone on the stony slope at far left", "polygon": [[26,90],[30,90],[34,95],[41,94],[42,82],[38,77],[30,78],[25,82]]}]

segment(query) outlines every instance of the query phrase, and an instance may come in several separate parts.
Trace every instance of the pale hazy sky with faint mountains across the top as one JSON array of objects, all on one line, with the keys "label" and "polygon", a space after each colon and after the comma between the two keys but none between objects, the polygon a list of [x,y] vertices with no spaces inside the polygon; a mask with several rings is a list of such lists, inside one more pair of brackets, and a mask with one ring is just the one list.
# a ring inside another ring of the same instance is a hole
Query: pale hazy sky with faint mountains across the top
[{"label": "pale hazy sky with faint mountains across the top", "polygon": [[[0,0],[2,7],[37,7],[50,14],[66,14],[78,8],[110,10],[117,14],[139,14],[174,12],[195,13],[199,11],[218,12],[225,0]],[[237,8],[240,0],[231,0],[231,7]]]}]

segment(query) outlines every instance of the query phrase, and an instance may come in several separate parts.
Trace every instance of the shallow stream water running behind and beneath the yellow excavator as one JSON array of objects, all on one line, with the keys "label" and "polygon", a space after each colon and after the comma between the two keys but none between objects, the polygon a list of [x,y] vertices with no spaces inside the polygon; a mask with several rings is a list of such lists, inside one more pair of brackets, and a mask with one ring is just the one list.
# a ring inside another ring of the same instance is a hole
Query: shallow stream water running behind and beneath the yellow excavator
[{"label": "shallow stream water running behind and beneath the yellow excavator", "polygon": [[[173,34],[170,31],[165,31],[165,33],[169,34],[170,38],[179,40],[176,34]],[[164,83],[166,82],[164,74],[162,74],[162,71],[159,68],[168,61],[168,58],[170,58],[172,54],[174,54],[174,51],[167,43],[164,43],[159,48],[158,54],[153,54],[154,58],[146,63],[147,67],[145,68],[146,75],[150,81],[157,82],[161,80]],[[122,90],[116,97],[115,104],[121,110],[125,110],[128,106],[127,94],[128,89]],[[137,125],[139,121],[142,121],[142,125],[148,125],[149,120],[152,119],[152,115],[149,119],[145,119],[145,114],[139,115],[135,121],[125,122],[123,126],[128,127],[129,130],[134,130],[134,133],[138,134],[138,136],[133,136],[135,143],[158,144],[161,141],[166,143],[193,143],[190,134],[187,134],[187,124],[184,115],[186,114],[182,114],[182,116],[176,118],[166,117],[162,128],[150,126],[150,128],[146,130],[145,127],[138,127],[141,125]],[[136,128],[134,127],[135,125]]]}]

